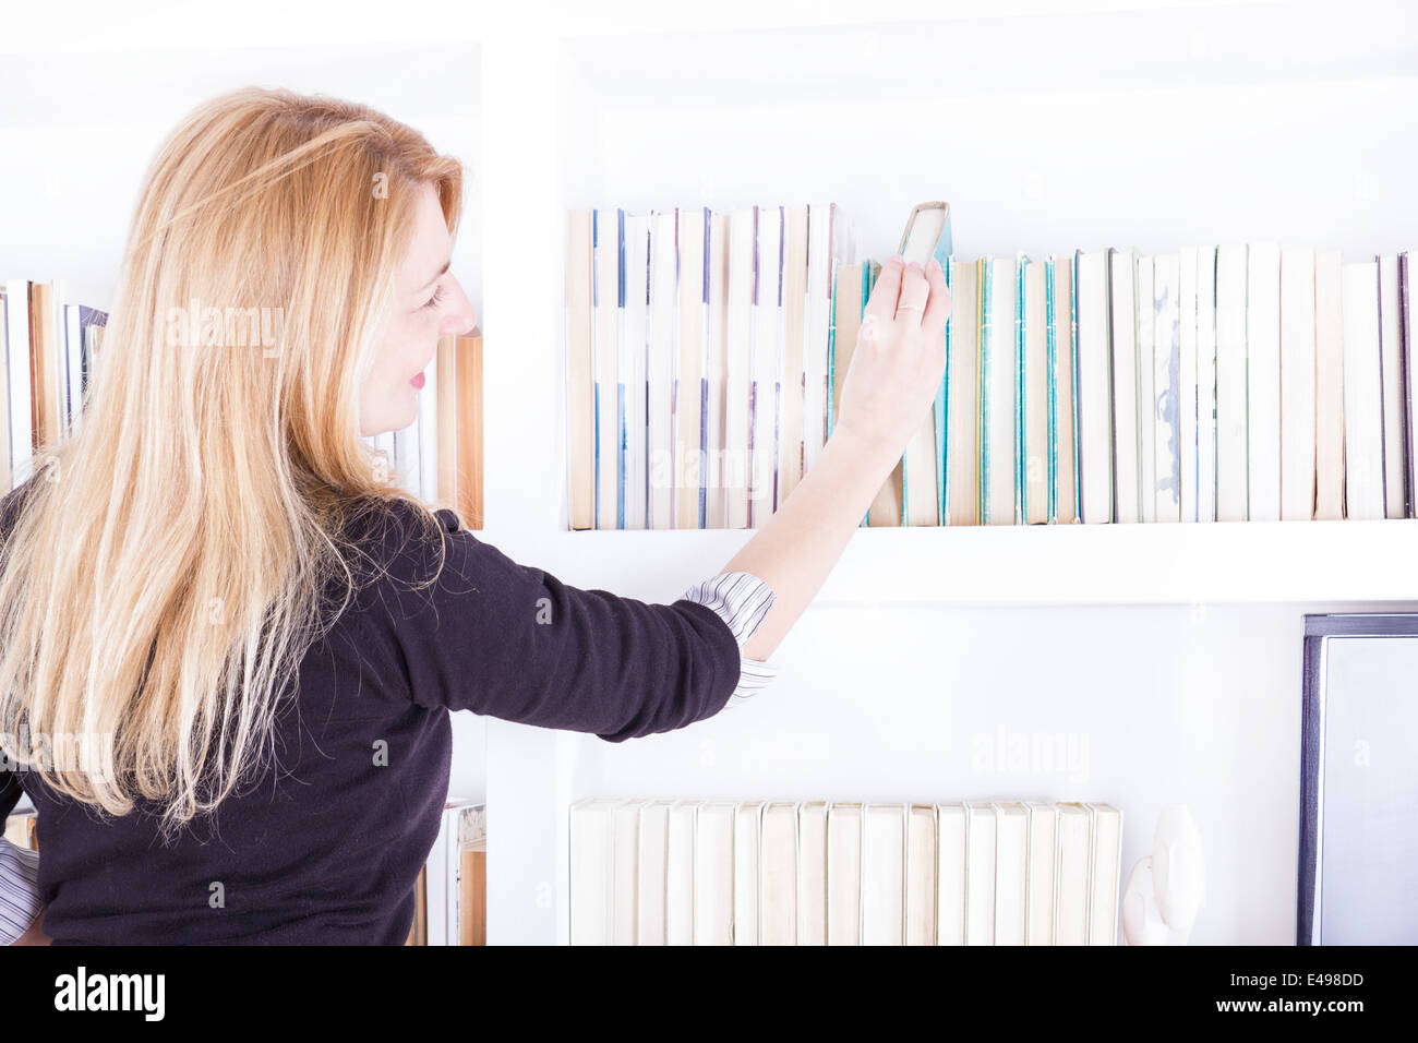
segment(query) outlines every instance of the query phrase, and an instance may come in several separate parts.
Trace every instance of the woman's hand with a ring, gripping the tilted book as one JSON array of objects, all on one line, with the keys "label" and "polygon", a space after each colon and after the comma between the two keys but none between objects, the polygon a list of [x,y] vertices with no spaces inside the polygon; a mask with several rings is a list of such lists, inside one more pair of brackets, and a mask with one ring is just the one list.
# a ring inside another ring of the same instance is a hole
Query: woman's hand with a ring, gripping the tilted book
[{"label": "woman's hand with a ring, gripping the tilted book", "polygon": [[899,257],[882,264],[862,314],[834,434],[900,456],[920,430],[946,373],[950,291],[936,258],[925,270]]}]

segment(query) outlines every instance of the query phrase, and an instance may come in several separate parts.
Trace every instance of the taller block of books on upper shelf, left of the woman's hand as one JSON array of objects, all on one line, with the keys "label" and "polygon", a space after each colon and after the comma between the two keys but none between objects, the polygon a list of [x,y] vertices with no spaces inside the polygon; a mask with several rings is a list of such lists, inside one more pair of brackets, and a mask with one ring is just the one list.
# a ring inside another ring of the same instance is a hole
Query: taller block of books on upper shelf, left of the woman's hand
[{"label": "taller block of books on upper shelf, left of the woman's hand", "polygon": [[832,203],[570,216],[571,528],[746,528],[827,429]]}]

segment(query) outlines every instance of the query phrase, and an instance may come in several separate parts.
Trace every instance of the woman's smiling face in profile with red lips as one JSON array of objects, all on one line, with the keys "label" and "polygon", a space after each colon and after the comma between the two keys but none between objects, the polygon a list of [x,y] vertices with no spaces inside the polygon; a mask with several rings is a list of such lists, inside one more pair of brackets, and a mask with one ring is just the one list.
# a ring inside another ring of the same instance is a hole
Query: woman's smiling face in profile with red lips
[{"label": "woman's smiling face in profile with red lips", "polygon": [[468,297],[448,270],[451,248],[438,194],[424,184],[414,209],[408,255],[394,272],[394,298],[360,387],[363,436],[398,431],[414,423],[424,369],[434,360],[438,339],[467,333],[476,321]]}]

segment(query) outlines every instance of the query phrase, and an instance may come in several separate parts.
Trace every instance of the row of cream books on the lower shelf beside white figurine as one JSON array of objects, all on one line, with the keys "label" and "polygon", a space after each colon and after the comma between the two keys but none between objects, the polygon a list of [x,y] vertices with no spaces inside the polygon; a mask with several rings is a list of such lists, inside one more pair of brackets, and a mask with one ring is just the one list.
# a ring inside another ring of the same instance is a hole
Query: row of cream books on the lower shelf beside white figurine
[{"label": "row of cream books on the lower shelf beside white figurine", "polygon": [[1105,803],[571,805],[573,945],[1115,945]]}]

